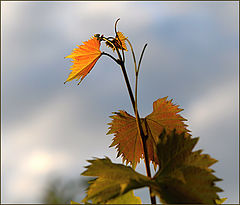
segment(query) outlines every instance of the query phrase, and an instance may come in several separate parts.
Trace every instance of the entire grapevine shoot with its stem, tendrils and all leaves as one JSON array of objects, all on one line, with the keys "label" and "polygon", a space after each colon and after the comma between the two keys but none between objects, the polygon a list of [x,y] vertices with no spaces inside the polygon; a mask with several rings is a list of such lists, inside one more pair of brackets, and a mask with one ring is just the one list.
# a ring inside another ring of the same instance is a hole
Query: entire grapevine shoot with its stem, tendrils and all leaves
[{"label": "entire grapevine shoot with its stem, tendrils and all leaves", "polygon": [[[114,134],[115,137],[110,147],[116,146],[117,157],[122,157],[123,164],[112,163],[107,157],[88,160],[90,165],[86,166],[82,175],[95,178],[89,181],[82,202],[139,204],[141,199],[134,196],[133,190],[149,187],[151,204],[156,204],[156,196],[163,203],[222,203],[225,198],[220,199],[217,194],[222,189],[215,186],[215,182],[220,179],[209,168],[217,160],[208,154],[202,154],[202,150],[193,151],[198,138],[191,136],[184,124],[186,119],[178,114],[182,109],[164,97],[153,103],[151,114],[140,118],[137,104],[138,76],[147,44],[137,62],[131,42],[122,32],[117,31],[118,21],[119,19],[115,22],[115,37],[95,34],[66,57],[73,59],[72,71],[66,82],[80,80],[78,85],[101,56],[110,57],[122,70],[135,114],[134,117],[121,110],[111,116],[112,122],[109,123],[107,134]],[[103,42],[116,52],[117,57],[100,51]],[[135,95],[125,65],[127,43],[134,62]],[[140,159],[144,159],[147,176],[135,171]],[[155,168],[153,177],[150,162]]]}]

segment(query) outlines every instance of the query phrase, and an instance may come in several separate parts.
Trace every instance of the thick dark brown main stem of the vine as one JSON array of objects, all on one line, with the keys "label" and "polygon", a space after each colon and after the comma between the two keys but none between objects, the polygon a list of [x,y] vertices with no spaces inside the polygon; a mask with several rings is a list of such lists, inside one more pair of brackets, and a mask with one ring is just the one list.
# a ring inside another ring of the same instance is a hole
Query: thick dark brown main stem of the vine
[{"label": "thick dark brown main stem of the vine", "polygon": [[[126,82],[126,85],[127,85],[128,93],[129,93],[129,96],[130,96],[130,99],[131,99],[131,102],[132,102],[133,110],[135,112],[138,132],[139,132],[139,134],[141,136],[142,143],[143,143],[144,162],[145,162],[145,166],[146,166],[147,176],[149,178],[151,178],[150,163],[149,163],[147,144],[146,144],[147,136],[144,135],[144,132],[143,132],[143,129],[142,129],[142,125],[141,125],[141,121],[140,121],[140,117],[139,117],[137,109],[135,108],[135,100],[134,100],[134,97],[133,97],[132,88],[131,88],[131,85],[129,83],[127,72],[126,72],[126,68],[125,68],[125,65],[124,65],[123,61],[121,61],[120,66],[122,68],[122,72],[123,72],[124,79],[125,79],[125,82]],[[151,203],[152,204],[156,204],[156,197],[152,196],[151,188],[149,189],[149,191],[150,191]]]}]

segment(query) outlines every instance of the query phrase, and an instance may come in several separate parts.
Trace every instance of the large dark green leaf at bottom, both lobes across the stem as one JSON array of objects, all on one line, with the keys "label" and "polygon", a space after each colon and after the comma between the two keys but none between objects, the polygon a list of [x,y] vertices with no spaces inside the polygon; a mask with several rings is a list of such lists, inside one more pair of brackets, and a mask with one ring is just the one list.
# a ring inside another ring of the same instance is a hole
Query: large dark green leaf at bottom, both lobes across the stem
[{"label": "large dark green leaf at bottom, both lobes across the stem", "polygon": [[[108,158],[89,160],[90,165],[82,175],[96,178],[89,182],[83,202],[125,203],[127,196],[132,195],[129,191],[146,186],[151,187],[153,194],[167,204],[218,202],[217,192],[222,190],[215,186],[215,182],[220,179],[209,169],[216,160],[201,154],[201,150],[193,151],[197,141],[198,138],[192,138],[187,133],[178,134],[175,129],[170,133],[163,130],[156,146],[159,170],[152,179],[129,166],[114,164]],[[137,200],[130,198],[128,204]]]}]

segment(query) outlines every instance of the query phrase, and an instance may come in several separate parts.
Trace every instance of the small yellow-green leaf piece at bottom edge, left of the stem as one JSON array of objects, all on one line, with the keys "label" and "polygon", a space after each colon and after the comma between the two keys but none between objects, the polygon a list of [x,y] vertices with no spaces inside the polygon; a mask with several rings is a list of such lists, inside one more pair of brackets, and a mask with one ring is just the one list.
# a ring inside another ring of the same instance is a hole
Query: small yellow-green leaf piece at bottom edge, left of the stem
[{"label": "small yellow-green leaf piece at bottom edge, left of the stem", "polygon": [[134,196],[133,191],[129,191],[115,199],[109,200],[106,204],[142,204],[141,198]]}]

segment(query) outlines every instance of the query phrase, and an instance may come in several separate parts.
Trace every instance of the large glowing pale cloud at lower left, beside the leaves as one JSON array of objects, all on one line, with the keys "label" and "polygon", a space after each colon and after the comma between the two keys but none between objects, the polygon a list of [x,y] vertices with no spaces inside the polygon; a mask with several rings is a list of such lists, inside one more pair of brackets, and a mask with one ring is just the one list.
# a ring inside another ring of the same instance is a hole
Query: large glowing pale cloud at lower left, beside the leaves
[{"label": "large glowing pale cloud at lower left, beside the leaves", "polygon": [[85,121],[92,121],[88,106],[72,92],[56,94],[24,120],[2,130],[3,202],[39,202],[50,174],[78,177],[87,159],[115,157],[115,150],[107,148],[111,138],[101,138],[105,130],[99,130],[96,122],[86,127]]}]

